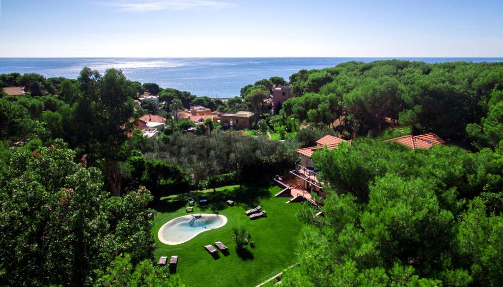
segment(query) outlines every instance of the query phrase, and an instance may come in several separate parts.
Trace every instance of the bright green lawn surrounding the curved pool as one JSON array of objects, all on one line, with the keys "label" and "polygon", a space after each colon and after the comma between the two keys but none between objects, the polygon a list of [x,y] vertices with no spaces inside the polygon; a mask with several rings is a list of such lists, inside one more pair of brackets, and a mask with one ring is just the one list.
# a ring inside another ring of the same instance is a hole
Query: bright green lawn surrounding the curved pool
[{"label": "bright green lawn surrounding the curved pool", "polygon": [[[295,263],[294,250],[302,224],[296,213],[299,203],[285,204],[287,198],[274,197],[278,187],[231,186],[206,191],[204,196],[210,204],[201,209],[197,204],[194,213],[219,212],[227,217],[225,226],[203,232],[189,242],[180,245],[165,245],[158,241],[157,231],[166,222],[186,215],[187,198],[203,194],[187,194],[177,198],[163,198],[153,206],[157,210],[152,235],[158,244],[154,255],[178,255],[177,274],[188,286],[255,286]],[[227,207],[225,201],[232,199],[235,206]],[[268,216],[251,221],[244,214],[248,207],[262,205]],[[232,241],[232,228],[245,226],[255,242],[248,253],[238,255]],[[204,246],[222,241],[229,247],[229,254],[220,253],[214,259]]]}]

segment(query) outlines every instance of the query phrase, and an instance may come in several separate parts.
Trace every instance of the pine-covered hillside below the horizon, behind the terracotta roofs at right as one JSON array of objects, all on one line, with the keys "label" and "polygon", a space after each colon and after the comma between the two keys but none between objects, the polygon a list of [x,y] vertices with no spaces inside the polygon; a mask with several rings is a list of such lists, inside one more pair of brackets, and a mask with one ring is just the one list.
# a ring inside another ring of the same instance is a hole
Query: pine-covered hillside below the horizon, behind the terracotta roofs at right
[{"label": "pine-covered hillside below the horizon, behind the terracotta roofs at right", "polygon": [[[464,139],[467,124],[484,117],[489,99],[493,98],[491,105],[499,101],[502,70],[501,63],[403,60],[300,70],[290,77],[297,97],[283,103],[283,108],[289,116],[318,124],[328,124],[329,118],[323,117],[332,115],[332,119],[341,119],[338,131],[353,137],[369,131],[381,133],[399,120],[410,125],[414,134],[433,131],[444,138]],[[480,130],[476,126],[470,129],[472,134]]]}]

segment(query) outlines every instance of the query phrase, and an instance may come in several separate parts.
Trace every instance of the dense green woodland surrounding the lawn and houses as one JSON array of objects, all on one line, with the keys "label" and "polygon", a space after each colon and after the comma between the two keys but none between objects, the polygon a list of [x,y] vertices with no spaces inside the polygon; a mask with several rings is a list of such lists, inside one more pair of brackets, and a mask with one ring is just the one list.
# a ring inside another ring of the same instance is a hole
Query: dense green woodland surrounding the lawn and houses
[{"label": "dense green woodland surrounding the lawn and houses", "polygon": [[[353,143],[314,154],[330,183],[325,216],[307,204],[299,211],[300,264],[283,284],[501,285],[503,63],[347,62],[289,80],[260,80],[222,102],[131,82],[115,69],[84,68],[76,80],[0,75],[0,87],[28,92],[0,98],[0,281],[180,285],[152,266],[149,202],[267,183],[294,165],[295,149],[332,134]],[[289,84],[295,97],[271,116],[264,100],[275,84]],[[145,91],[163,109],[135,107]],[[258,112],[256,128],[285,141],[209,122],[209,135],[193,134],[177,119],[157,138],[133,131],[142,114],[191,105]],[[416,151],[382,143],[407,131],[449,143]]]}]

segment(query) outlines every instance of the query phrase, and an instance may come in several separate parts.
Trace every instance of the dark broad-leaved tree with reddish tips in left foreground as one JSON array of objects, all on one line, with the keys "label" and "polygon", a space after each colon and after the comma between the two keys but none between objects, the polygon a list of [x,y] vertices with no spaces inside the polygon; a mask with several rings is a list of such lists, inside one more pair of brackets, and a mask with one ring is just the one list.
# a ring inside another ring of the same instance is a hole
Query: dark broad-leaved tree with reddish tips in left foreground
[{"label": "dark broad-leaved tree with reddish tips in left foreground", "polygon": [[2,282],[88,285],[120,253],[134,264],[151,258],[149,192],[110,197],[100,171],[74,158],[56,140],[33,152],[15,148],[0,166]]}]

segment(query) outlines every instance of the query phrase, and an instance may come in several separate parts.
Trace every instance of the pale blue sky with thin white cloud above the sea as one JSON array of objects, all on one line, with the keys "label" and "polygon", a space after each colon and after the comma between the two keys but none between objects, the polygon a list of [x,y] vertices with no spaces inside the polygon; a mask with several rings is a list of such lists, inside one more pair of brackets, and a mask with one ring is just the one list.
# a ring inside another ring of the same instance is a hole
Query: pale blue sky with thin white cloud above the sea
[{"label": "pale blue sky with thin white cloud above the sea", "polygon": [[0,3],[0,57],[503,57],[502,0]]}]

